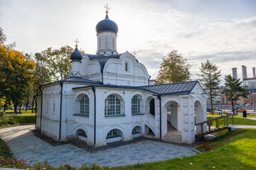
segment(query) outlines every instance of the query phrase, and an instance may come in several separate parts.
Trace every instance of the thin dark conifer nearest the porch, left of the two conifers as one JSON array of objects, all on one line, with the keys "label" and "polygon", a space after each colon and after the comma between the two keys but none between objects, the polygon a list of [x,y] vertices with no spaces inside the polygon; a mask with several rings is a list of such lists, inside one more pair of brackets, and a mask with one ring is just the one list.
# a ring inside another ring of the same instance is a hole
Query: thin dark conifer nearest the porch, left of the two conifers
[{"label": "thin dark conifer nearest the porch, left of the two conifers", "polygon": [[201,83],[203,84],[204,89],[208,89],[208,97],[210,98],[210,107],[213,113],[213,98],[219,95],[218,90],[220,89],[220,71],[218,70],[218,66],[213,63],[210,63],[207,60],[205,63],[201,62],[200,72],[201,74],[197,74]]}]

